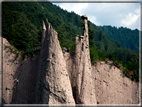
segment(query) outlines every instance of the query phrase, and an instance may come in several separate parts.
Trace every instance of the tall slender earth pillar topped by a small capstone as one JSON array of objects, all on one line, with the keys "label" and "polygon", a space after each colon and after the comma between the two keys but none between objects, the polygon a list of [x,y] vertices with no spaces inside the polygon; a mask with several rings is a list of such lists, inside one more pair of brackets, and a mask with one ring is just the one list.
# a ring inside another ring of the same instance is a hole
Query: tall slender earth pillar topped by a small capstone
[{"label": "tall slender earth pillar topped by a small capstone", "polygon": [[77,104],[97,104],[95,87],[92,77],[92,68],[89,53],[89,35],[87,16],[81,17],[84,20],[84,35],[76,35],[76,103]]}]

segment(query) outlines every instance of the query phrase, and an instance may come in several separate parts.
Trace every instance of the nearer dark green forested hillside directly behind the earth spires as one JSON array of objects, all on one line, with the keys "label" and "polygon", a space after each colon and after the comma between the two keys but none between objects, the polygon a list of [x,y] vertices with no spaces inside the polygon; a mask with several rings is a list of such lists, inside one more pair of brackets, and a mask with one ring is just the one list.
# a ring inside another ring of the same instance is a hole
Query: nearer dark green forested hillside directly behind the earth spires
[{"label": "nearer dark green forested hillside directly behind the earth spires", "polygon": [[[58,32],[61,47],[74,51],[75,34],[83,34],[83,20],[74,12],[67,12],[52,3],[2,2],[2,36],[18,51],[40,45],[42,21],[48,19]],[[123,67],[125,74],[138,70],[138,52],[123,48],[88,21],[91,62],[113,60]],[[123,33],[123,32],[122,32]]]}]

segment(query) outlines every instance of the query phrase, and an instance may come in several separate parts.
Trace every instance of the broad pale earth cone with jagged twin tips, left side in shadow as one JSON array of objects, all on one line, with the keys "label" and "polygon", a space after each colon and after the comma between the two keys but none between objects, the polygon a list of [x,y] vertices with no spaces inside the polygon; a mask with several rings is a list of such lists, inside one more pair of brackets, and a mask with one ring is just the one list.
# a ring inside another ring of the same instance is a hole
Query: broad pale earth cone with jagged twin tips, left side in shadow
[{"label": "broad pale earth cone with jagged twin tips, left side in shadow", "polygon": [[57,32],[43,23],[43,38],[39,58],[39,101],[43,104],[75,104]]}]

